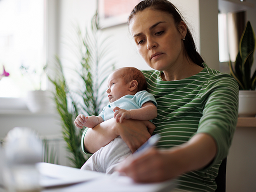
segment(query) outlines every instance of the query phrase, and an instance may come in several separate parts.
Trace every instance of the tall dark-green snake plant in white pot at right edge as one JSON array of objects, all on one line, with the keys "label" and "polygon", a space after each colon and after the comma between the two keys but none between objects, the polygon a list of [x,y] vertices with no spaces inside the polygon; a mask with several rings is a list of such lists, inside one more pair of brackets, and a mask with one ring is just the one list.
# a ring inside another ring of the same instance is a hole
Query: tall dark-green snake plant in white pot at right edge
[{"label": "tall dark-green snake plant in white pot at right edge", "polygon": [[239,84],[239,116],[256,115],[256,71],[251,76],[254,50],[255,34],[248,21],[240,38],[234,68],[229,62],[230,73]]}]

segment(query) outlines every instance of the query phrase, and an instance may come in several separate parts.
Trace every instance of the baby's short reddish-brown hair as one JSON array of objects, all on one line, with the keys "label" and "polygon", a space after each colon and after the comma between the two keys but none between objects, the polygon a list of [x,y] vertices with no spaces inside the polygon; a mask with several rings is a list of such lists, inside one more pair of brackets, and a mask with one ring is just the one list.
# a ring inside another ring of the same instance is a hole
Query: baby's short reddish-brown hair
[{"label": "baby's short reddish-brown hair", "polygon": [[122,67],[120,69],[122,70],[121,78],[125,80],[125,83],[136,80],[138,82],[137,92],[147,90],[147,81],[140,70],[135,67]]}]

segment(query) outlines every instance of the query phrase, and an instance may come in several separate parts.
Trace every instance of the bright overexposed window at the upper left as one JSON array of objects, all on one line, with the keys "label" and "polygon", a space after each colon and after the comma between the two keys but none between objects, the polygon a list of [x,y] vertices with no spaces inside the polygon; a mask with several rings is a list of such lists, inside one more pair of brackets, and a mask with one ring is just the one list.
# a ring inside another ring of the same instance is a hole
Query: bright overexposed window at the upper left
[{"label": "bright overexposed window at the upper left", "polygon": [[0,97],[40,89],[44,58],[44,0],[0,0]]}]

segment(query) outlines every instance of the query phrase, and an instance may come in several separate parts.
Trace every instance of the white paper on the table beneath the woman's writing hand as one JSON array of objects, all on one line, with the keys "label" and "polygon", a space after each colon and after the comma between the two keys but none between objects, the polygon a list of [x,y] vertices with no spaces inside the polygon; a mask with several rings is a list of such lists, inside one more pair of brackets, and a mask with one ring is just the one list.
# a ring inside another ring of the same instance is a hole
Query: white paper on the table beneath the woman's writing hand
[{"label": "white paper on the table beneath the woman's writing hand", "polygon": [[[135,183],[126,176],[106,175],[49,163],[38,163],[37,168],[41,174],[40,184],[45,187],[42,192],[169,192],[176,185],[174,181]],[[76,184],[66,186],[72,183]]]}]

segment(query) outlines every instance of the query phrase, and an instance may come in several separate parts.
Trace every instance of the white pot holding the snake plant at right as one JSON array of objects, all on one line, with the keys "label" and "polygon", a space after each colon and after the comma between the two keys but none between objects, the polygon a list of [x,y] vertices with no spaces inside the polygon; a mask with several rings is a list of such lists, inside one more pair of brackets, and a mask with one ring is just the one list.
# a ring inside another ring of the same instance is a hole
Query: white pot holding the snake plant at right
[{"label": "white pot holding the snake plant at right", "polygon": [[256,116],[255,90],[239,90],[238,116]]}]

